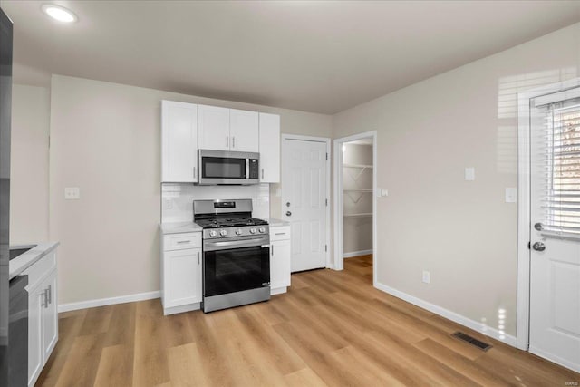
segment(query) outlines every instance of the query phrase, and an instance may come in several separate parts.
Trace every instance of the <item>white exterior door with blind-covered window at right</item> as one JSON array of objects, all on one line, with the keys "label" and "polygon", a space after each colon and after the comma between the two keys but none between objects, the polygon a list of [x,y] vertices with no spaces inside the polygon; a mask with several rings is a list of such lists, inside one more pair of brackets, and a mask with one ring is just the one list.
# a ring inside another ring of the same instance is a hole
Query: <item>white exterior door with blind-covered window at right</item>
[{"label": "white exterior door with blind-covered window at right", "polygon": [[529,351],[580,372],[580,99],[563,98],[532,100]]}]

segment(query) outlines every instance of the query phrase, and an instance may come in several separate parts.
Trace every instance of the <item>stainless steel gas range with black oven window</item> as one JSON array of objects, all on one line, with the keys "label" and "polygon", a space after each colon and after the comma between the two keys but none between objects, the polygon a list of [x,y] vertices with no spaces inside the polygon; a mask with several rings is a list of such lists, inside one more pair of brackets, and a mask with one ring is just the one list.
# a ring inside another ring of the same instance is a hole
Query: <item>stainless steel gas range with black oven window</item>
[{"label": "stainless steel gas range with black oven window", "polygon": [[252,218],[252,200],[195,200],[193,220],[203,227],[202,310],[269,300],[269,227]]}]

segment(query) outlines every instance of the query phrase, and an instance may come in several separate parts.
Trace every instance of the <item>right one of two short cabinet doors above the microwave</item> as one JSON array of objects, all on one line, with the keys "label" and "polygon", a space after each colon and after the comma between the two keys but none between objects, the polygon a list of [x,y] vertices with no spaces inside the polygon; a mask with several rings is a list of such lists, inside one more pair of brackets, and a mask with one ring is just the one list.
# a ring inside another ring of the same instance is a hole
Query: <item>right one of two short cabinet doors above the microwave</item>
[{"label": "right one of two short cabinet doors above the microwave", "polygon": [[257,153],[258,133],[257,111],[229,110],[230,150]]}]

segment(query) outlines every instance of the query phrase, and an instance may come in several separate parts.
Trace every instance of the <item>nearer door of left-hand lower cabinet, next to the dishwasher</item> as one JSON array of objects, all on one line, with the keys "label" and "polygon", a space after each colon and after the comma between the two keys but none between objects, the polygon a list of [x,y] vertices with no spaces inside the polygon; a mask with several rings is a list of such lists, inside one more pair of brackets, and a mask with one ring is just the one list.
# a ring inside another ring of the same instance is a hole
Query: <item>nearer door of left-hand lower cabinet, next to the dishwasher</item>
[{"label": "nearer door of left-hand lower cabinet, next to the dishwasher", "polygon": [[28,291],[28,385],[34,385],[43,369],[43,305],[42,284]]}]

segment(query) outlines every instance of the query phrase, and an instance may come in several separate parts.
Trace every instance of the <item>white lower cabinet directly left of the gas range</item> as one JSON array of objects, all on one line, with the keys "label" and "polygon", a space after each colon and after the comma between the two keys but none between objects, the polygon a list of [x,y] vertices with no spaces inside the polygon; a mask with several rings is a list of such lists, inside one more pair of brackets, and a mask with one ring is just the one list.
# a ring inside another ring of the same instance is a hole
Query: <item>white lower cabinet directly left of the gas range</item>
[{"label": "white lower cabinet directly left of the gas range", "polygon": [[201,233],[163,237],[161,302],[163,314],[199,309],[201,302]]}]

